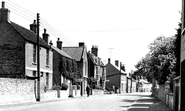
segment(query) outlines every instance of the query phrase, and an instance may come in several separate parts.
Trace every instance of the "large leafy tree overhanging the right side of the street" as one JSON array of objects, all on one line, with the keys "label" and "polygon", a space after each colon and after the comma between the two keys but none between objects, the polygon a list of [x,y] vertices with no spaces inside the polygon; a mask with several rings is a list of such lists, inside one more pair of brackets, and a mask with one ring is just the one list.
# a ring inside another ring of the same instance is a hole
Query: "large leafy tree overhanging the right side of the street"
[{"label": "large leafy tree overhanging the right side of the street", "polygon": [[158,37],[149,45],[149,53],[135,67],[134,74],[145,77],[148,81],[155,78],[159,84],[164,84],[175,71],[176,58],[174,54],[175,37]]}]

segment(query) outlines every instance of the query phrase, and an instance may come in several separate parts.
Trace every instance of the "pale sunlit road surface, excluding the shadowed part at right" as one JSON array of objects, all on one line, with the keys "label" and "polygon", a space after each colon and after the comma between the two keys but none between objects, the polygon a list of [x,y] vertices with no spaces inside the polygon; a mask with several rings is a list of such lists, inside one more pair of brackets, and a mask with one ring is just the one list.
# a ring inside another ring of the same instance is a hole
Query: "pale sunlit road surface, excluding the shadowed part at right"
[{"label": "pale sunlit road surface, excluding the shadowed part at right", "polygon": [[0,107],[0,111],[126,111],[142,94],[112,94],[77,97]]}]

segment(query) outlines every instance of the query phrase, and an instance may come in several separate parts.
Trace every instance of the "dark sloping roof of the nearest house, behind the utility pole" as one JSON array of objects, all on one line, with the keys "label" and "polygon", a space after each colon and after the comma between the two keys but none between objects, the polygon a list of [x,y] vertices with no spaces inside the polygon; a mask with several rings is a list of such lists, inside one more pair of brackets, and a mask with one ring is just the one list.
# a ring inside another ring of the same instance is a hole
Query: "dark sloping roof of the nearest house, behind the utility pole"
[{"label": "dark sloping roof of the nearest house, behind the utility pole", "polygon": [[[10,22],[10,25],[27,41],[32,43],[37,43],[37,35],[31,30],[28,30],[14,22]],[[40,37],[39,38],[40,45],[46,48],[50,48],[50,46]]]}]

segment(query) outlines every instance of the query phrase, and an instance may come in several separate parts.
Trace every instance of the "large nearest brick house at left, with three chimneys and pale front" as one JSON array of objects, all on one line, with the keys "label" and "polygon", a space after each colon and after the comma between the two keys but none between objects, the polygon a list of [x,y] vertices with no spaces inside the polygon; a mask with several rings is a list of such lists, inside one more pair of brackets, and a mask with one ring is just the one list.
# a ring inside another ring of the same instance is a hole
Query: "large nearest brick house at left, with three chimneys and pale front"
[{"label": "large nearest brick house at left, with three chimneys and pale front", "polygon": [[[8,78],[35,78],[37,76],[36,23],[28,30],[9,20],[10,11],[4,2],[0,9],[0,76]],[[41,88],[52,88],[52,56],[46,30],[40,38]],[[42,92],[43,90],[41,90]]]}]

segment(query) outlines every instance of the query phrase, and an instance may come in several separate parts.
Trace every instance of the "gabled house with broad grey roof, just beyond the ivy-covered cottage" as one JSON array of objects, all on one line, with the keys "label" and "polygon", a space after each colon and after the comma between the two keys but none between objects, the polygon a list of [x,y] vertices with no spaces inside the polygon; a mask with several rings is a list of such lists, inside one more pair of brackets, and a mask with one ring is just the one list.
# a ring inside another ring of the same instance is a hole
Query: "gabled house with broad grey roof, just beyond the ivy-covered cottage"
[{"label": "gabled house with broad grey roof, just beyond the ivy-covered cottage", "polygon": [[80,42],[78,47],[63,47],[63,51],[77,62],[81,76],[81,95],[84,95],[88,81],[87,48],[83,42]]}]

